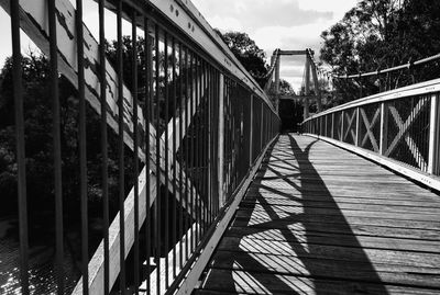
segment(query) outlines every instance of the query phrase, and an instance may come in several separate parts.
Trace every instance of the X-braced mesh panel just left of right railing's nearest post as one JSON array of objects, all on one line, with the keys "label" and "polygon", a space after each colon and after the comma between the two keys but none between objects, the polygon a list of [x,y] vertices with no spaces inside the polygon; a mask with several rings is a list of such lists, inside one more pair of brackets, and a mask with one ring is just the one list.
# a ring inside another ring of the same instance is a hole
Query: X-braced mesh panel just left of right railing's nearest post
[{"label": "X-braced mesh panel just left of right railing's nearest post", "polygon": [[430,97],[386,103],[384,155],[421,171],[428,169]]}]

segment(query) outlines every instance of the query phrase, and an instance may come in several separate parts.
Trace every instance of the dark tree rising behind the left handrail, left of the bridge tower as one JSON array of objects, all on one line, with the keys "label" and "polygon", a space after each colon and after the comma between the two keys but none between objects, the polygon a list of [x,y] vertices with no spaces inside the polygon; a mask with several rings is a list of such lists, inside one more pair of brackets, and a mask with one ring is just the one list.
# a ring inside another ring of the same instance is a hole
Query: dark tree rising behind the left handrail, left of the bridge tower
[{"label": "dark tree rising behind the left handrail, left of the bridge tower", "polygon": [[231,49],[243,67],[255,78],[258,84],[264,87],[267,79],[260,78],[266,75],[268,70],[264,50],[261,49],[246,33],[227,32],[222,34],[219,30],[215,31],[228,45],[229,49]]}]

